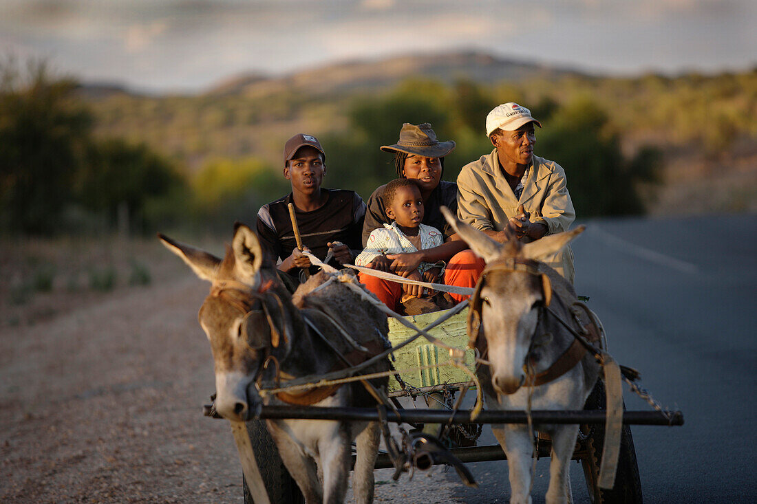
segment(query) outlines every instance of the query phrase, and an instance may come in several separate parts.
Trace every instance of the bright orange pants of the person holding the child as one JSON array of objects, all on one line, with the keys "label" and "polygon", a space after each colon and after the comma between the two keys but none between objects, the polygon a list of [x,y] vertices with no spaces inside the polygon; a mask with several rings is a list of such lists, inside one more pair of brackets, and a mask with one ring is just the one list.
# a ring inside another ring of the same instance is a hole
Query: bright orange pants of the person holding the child
[{"label": "bright orange pants of the person holding the child", "polygon": [[[447,269],[444,272],[444,283],[446,285],[456,285],[457,287],[474,288],[478,277],[484,271],[484,260],[473,254],[473,250],[463,250],[455,254],[447,263]],[[397,304],[402,297],[402,284],[377,278],[372,275],[360,273],[358,275],[360,283],[366,286],[369,291],[375,294],[390,310],[397,311]],[[469,296],[463,294],[450,294],[453,300],[460,302],[468,299]]]}]

